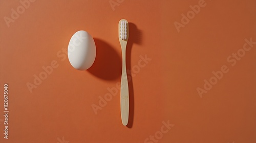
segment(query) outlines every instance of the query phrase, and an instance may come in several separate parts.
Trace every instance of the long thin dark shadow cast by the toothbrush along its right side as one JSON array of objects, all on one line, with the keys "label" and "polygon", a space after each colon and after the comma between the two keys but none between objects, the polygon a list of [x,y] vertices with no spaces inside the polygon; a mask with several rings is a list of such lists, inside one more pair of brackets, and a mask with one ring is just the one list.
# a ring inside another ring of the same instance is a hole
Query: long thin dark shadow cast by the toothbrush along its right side
[{"label": "long thin dark shadow cast by the toothbrush along its right side", "polygon": [[126,46],[126,69],[129,86],[129,120],[126,125],[127,128],[133,127],[134,120],[134,91],[133,91],[133,78],[131,67],[131,53],[133,44],[142,44],[142,31],[137,28],[134,23],[129,22],[129,40]]}]

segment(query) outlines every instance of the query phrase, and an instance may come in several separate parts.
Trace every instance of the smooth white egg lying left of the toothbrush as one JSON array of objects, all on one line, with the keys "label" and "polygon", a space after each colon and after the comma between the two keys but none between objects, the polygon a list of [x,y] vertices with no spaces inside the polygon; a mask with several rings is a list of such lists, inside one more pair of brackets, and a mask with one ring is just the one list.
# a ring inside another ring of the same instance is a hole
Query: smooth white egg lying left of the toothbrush
[{"label": "smooth white egg lying left of the toothbrush", "polygon": [[70,64],[78,70],[86,70],[93,65],[95,57],[96,46],[93,37],[86,31],[77,31],[69,41]]}]

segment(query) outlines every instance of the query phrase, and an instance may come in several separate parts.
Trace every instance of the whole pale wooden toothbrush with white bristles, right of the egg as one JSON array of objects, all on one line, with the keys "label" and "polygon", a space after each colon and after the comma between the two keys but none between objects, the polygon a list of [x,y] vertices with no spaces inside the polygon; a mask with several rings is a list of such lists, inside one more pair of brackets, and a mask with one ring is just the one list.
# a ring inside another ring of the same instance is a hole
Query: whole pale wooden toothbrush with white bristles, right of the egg
[{"label": "whole pale wooden toothbrush with white bristles, right of the egg", "polygon": [[121,19],[118,23],[118,35],[122,49],[122,77],[120,88],[120,103],[121,103],[121,119],[124,126],[128,123],[129,118],[129,87],[126,73],[125,51],[126,44],[129,38],[129,25],[128,21]]}]

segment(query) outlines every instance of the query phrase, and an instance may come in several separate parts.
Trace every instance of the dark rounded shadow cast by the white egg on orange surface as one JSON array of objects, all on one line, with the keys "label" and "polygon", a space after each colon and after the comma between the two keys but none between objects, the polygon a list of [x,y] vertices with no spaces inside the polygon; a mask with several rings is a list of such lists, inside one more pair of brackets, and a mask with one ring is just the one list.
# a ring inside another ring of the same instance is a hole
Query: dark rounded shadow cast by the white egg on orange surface
[{"label": "dark rounded shadow cast by the white egg on orange surface", "polygon": [[122,69],[121,57],[110,44],[98,38],[93,39],[96,45],[96,58],[87,71],[104,80],[120,78]]}]

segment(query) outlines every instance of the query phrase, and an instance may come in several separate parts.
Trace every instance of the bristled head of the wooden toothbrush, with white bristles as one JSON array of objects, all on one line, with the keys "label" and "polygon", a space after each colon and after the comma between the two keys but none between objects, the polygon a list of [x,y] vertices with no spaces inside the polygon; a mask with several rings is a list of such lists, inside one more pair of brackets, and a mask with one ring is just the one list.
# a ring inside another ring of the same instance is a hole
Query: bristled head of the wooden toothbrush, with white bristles
[{"label": "bristled head of the wooden toothbrush, with white bristles", "polygon": [[128,21],[125,19],[121,19],[119,21],[119,40],[127,41],[129,38],[129,25]]}]

